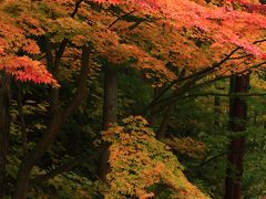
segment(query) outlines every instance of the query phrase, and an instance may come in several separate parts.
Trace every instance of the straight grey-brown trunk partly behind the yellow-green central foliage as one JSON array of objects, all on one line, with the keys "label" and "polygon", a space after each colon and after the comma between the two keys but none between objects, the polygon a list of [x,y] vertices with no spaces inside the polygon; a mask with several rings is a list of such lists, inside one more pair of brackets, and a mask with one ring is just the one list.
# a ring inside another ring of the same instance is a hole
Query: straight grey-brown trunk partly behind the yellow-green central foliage
[{"label": "straight grey-brown trunk partly behind the yellow-green central foliage", "polygon": [[[104,82],[104,102],[103,102],[103,129],[108,129],[110,124],[116,122],[117,113],[117,80],[113,65],[105,66]],[[104,149],[100,157],[99,175],[102,180],[106,179],[106,174],[110,171],[109,160],[109,144],[104,144]]]}]

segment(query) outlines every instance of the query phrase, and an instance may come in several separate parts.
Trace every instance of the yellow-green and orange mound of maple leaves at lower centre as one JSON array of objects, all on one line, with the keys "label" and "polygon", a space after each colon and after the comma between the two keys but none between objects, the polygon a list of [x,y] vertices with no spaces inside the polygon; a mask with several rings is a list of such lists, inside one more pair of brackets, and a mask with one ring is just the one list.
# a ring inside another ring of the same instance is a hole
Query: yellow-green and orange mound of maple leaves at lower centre
[{"label": "yellow-green and orange mound of maple leaves at lower centre", "polygon": [[207,198],[187,181],[182,165],[166,145],[155,139],[145,119],[130,116],[122,123],[104,133],[104,139],[112,143],[106,198],[150,198],[155,195],[149,191],[154,185],[168,187],[171,197]]}]

